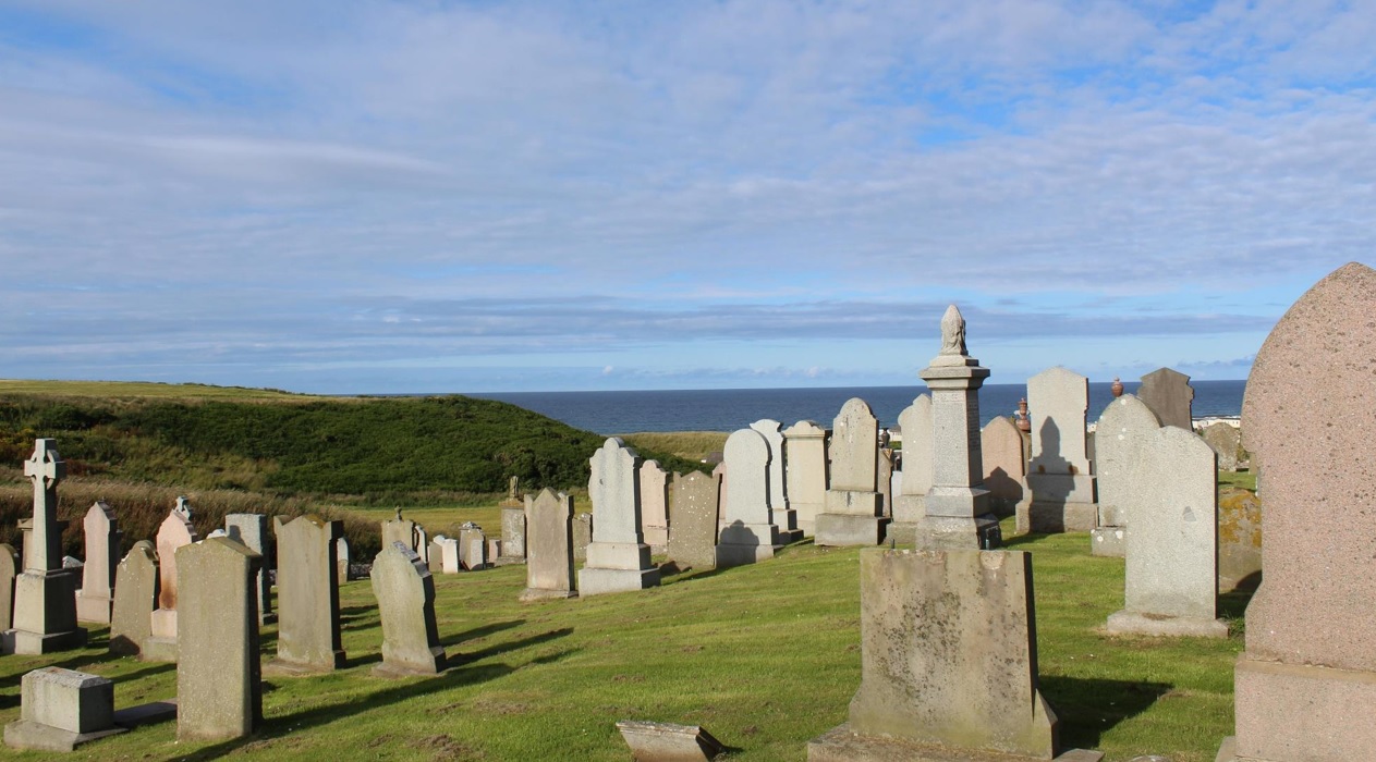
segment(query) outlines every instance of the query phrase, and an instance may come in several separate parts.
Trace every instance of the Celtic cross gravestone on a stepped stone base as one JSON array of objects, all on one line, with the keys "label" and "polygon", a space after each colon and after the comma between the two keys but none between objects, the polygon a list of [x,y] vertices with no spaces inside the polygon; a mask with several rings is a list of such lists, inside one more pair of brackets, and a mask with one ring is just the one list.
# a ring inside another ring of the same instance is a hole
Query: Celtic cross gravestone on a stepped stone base
[{"label": "Celtic cross gravestone on a stepped stone base", "polygon": [[33,519],[21,521],[23,572],[14,580],[12,626],[3,637],[4,653],[52,653],[85,645],[77,627],[76,574],[62,568],[62,528],[58,521],[58,483],[67,473],[54,439],[39,439],[23,475],[33,483]]}]

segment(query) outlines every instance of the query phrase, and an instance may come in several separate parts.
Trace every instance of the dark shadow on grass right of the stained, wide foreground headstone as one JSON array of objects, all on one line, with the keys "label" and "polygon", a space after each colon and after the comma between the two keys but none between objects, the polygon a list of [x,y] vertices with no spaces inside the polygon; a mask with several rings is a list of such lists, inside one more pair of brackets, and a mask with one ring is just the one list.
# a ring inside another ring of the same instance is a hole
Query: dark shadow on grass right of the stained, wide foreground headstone
[{"label": "dark shadow on grass right of the stained, wide foreground headstone", "polygon": [[1172,685],[1043,675],[1042,695],[1061,718],[1061,745],[1095,748],[1105,730],[1148,710]]}]

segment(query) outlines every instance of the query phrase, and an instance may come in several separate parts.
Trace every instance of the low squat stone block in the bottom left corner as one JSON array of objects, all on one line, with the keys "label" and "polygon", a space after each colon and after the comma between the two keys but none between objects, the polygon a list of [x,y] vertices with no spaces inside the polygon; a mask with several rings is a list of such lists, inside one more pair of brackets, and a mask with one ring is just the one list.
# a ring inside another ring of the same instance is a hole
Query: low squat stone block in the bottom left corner
[{"label": "low squat stone block in the bottom left corner", "polygon": [[19,719],[4,726],[11,748],[72,751],[124,732],[114,726],[114,684],[103,677],[41,667],[21,685]]}]

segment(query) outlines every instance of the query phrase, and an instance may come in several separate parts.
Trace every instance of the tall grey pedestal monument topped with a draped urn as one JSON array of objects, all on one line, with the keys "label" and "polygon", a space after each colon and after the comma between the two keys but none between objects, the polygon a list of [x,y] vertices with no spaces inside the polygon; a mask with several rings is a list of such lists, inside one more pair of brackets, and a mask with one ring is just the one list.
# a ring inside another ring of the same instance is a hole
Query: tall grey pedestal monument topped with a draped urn
[{"label": "tall grey pedestal monument topped with a draped urn", "polygon": [[980,450],[980,387],[989,369],[965,345],[965,318],[952,304],[941,318],[941,351],[922,370],[932,389],[932,490],[918,543],[930,549],[992,549],[999,523],[989,513]]}]

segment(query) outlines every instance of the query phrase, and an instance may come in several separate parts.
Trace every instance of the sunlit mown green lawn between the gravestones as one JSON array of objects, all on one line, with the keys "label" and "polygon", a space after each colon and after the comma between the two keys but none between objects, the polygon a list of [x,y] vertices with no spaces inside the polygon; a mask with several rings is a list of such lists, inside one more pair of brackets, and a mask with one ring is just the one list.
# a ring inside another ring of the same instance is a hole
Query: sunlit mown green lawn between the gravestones
[{"label": "sunlit mown green lawn between the gravestones", "polygon": [[[444,510],[405,514],[432,531],[465,516],[497,531],[482,509]],[[1232,733],[1241,638],[1108,637],[1101,626],[1123,602],[1120,558],[1091,557],[1086,535],[1011,546],[1033,553],[1042,689],[1066,745],[1109,759],[1211,761]],[[860,681],[857,557],[857,549],[801,545],[643,593],[535,604],[516,600],[524,567],[438,575],[439,631],[454,667],[400,681],[369,674],[381,630],[370,583],[351,582],[341,589],[348,667],[270,677],[256,737],[178,744],[168,722],[50,756],[623,761],[615,722],[636,718],[700,723],[738,750],[732,759],[802,759],[808,739],[845,719]],[[1240,605],[1227,601],[1230,613]],[[91,635],[85,651],[0,659],[0,722],[19,714],[21,675],[45,664],[111,678],[118,707],[175,695],[173,666],[111,659],[106,630]],[[264,660],[274,635],[268,626]]]}]

